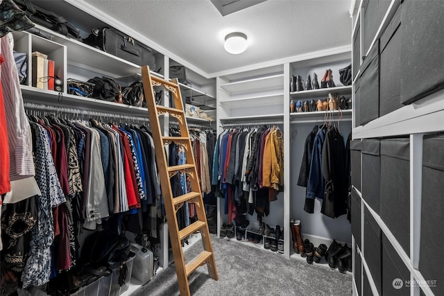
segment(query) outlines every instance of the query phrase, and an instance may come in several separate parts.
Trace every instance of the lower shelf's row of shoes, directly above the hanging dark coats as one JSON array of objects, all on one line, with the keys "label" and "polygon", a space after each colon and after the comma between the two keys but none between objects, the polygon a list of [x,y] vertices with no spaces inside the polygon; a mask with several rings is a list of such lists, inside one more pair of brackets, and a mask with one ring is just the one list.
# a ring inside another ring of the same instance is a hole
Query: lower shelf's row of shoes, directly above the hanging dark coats
[{"label": "lower shelf's row of shoes, directly above the hanging dark coats", "polygon": [[315,101],[290,101],[290,112],[314,112],[327,110],[347,110],[352,109],[352,98],[345,98],[337,94],[328,94],[325,100]]}]

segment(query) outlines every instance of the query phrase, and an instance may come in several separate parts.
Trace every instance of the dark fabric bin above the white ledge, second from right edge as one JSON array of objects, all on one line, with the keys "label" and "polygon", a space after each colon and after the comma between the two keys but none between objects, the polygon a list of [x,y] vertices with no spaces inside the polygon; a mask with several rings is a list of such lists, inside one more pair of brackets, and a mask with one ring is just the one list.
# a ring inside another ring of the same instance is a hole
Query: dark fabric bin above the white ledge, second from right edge
[{"label": "dark fabric bin above the white ledge, second from right edge", "polygon": [[401,96],[401,6],[381,36],[379,116],[399,109]]}]

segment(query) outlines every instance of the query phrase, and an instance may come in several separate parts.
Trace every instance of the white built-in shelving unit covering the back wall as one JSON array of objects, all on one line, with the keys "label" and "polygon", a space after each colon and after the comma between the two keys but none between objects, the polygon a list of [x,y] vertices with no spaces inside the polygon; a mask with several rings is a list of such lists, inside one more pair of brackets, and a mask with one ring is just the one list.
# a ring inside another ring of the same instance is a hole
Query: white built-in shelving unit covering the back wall
[{"label": "white built-in shelving unit covering the back wall", "polygon": [[[302,220],[304,237],[309,238],[316,246],[319,243],[330,245],[333,238],[347,243],[351,242],[350,223],[345,216],[336,220],[327,220],[330,218],[323,217],[318,210],[320,207],[318,204],[314,214],[302,213],[304,212],[305,188],[296,185],[305,138],[316,123],[323,124],[326,112],[290,113],[289,110],[291,100],[315,99],[317,101],[327,98],[329,93],[350,98],[352,87],[343,86],[339,82],[339,69],[347,67],[350,61],[350,46],[344,46],[341,49],[293,57],[282,64],[263,64],[262,67],[249,71],[233,70],[217,78],[218,134],[224,127],[243,128],[248,125],[261,124],[278,125],[284,132],[284,191],[278,194],[278,200],[270,203],[270,214],[262,220],[271,227],[275,225],[284,227],[284,256],[292,259],[305,261],[305,258],[294,254],[289,229],[290,218]],[[307,73],[312,75],[316,72],[321,84],[321,78],[326,69],[332,69],[334,72],[337,87],[289,92],[291,75],[299,74],[305,79]],[[346,140],[351,131],[352,111],[332,111],[327,114],[332,116],[334,124],[341,126],[344,140]],[[223,199],[219,199],[218,236],[220,236],[222,223],[229,222],[228,217],[223,213]],[[247,216],[250,225],[259,227],[256,214],[253,215]],[[236,238],[231,238],[231,240],[237,241]],[[253,245],[253,243],[246,243],[245,240],[241,243]],[[256,246],[264,249],[263,243]],[[325,266],[325,264],[321,265]]]}]

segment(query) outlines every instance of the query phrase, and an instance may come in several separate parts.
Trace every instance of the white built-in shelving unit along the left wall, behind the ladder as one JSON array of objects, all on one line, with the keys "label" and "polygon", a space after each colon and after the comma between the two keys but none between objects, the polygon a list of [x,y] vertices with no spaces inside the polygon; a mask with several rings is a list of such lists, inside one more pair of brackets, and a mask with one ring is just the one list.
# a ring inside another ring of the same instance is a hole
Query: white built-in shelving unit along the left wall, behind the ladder
[{"label": "white built-in shelving unit along the left wall, behind the ladder", "polygon": [[[156,72],[156,69],[151,69],[151,74],[169,79],[168,71],[169,64],[173,58],[176,64],[183,64],[187,67],[188,80],[191,86],[181,84],[182,96],[189,96],[193,98],[192,104],[197,104],[202,107],[209,116],[216,117],[216,80],[215,78],[207,78],[205,73],[201,73],[187,64],[187,62],[173,55],[173,53],[163,49],[161,46],[151,42],[146,37],[140,35],[133,29],[122,24],[119,20],[105,15],[101,10],[94,8],[85,1],[78,0],[64,0],[64,1],[39,1],[39,6],[46,8],[53,12],[69,17],[69,21],[76,24],[81,31],[82,37],[87,37],[92,28],[103,28],[106,26],[114,27],[126,34],[134,37],[136,40],[150,46],[155,55],[155,63],[157,69],[162,69]],[[69,12],[69,16],[67,16]],[[40,31],[49,33],[52,37],[47,40],[43,37],[33,35],[24,31],[13,32],[15,40],[15,50],[24,52],[31,57],[33,51],[40,51],[49,56],[49,59],[55,61],[55,74],[63,81],[62,92],[55,92],[46,89],[38,89],[32,86],[32,64],[31,58],[28,62],[28,78],[21,85],[22,94],[25,103],[33,106],[35,105],[49,105],[69,110],[78,110],[78,114],[82,116],[101,116],[103,114],[116,114],[120,118],[146,118],[148,123],[148,112],[144,107],[134,107],[113,103],[108,101],[101,101],[94,98],[84,98],[74,96],[67,93],[67,78],[74,78],[78,80],[87,81],[94,76],[108,76],[114,78],[122,87],[129,85],[131,82],[142,80],[141,67],[132,62],[128,62],[114,55],[105,53],[92,46],[83,44],[78,40],[71,39],[64,35],[60,35],[47,28],[36,25]],[[191,68],[191,69],[189,69]],[[195,71],[196,70],[196,71]],[[168,105],[168,94],[164,94],[162,103]],[[42,106],[42,110],[44,110]],[[53,110],[51,108],[51,110]],[[214,121],[214,120],[213,120]],[[187,116],[187,122],[190,126],[199,126],[206,129],[214,130],[211,120],[201,119],[198,117]],[[214,123],[213,123],[214,124]],[[164,123],[164,132],[168,132],[169,124]],[[159,252],[155,255],[159,257],[159,268],[157,273],[167,268],[172,260],[172,254],[169,254],[168,248],[169,232],[167,223],[163,223],[160,227],[160,241],[161,247]],[[191,247],[192,244],[200,241],[200,234],[193,235],[189,238],[189,245],[185,245],[184,250]],[[130,295],[141,283],[136,279],[131,279],[130,288],[123,293],[123,295]]]}]

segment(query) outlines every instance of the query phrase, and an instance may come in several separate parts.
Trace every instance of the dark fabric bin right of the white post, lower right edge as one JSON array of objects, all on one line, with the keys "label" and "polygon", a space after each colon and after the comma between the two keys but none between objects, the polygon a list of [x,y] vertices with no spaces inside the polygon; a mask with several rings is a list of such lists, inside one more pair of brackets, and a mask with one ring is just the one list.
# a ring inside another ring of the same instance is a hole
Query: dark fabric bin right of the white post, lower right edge
[{"label": "dark fabric bin right of the white post, lower right edge", "polygon": [[424,137],[422,146],[421,245],[419,270],[425,279],[436,279],[435,295],[444,295],[444,134]]}]

